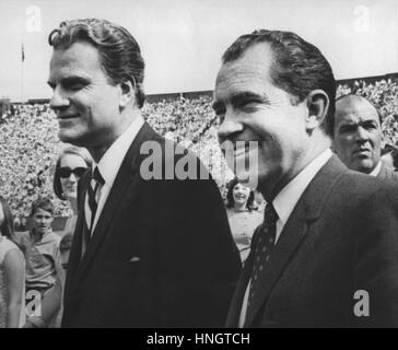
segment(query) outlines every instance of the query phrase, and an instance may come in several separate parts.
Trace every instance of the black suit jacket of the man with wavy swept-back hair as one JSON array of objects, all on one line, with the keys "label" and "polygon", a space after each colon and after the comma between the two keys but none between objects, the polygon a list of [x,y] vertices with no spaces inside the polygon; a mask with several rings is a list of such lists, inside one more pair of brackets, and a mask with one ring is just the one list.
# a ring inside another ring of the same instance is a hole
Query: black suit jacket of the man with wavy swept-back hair
[{"label": "black suit jacket of the man with wavy swept-back hair", "polygon": [[[144,124],[115,179],[81,258],[83,200],[70,254],[62,327],[223,326],[241,260],[211,179],[145,180],[145,141],[165,141]],[[174,143],[168,147],[174,148]],[[199,165],[189,153],[191,164]],[[195,172],[194,172],[195,173]],[[173,175],[173,172],[172,172]],[[174,174],[175,175],[175,174]],[[80,194],[89,184],[82,177]]]}]

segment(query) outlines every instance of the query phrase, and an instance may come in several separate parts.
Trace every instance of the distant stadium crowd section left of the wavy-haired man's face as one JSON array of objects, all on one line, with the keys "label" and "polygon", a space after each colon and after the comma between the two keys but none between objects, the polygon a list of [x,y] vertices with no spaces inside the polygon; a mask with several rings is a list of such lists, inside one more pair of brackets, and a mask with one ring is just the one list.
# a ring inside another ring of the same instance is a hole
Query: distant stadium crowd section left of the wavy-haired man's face
[{"label": "distant stadium crowd section left of the wavy-haired man's face", "polygon": [[[58,122],[45,105],[14,105],[0,125],[0,191],[15,218],[28,217],[38,196],[52,195],[52,164],[62,144]],[[66,203],[56,202],[57,215],[68,215]],[[20,229],[20,228],[19,228]]]}]

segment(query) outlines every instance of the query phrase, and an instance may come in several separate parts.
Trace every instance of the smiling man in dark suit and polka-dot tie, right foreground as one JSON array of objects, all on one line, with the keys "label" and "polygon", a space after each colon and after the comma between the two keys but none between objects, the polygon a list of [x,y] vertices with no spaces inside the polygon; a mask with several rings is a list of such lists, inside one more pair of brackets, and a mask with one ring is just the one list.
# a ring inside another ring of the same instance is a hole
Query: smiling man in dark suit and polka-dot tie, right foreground
[{"label": "smiling man in dark suit and polka-dot tie, right foreground", "polygon": [[335,94],[329,63],[294,33],[256,31],[223,55],[219,138],[250,141],[229,163],[267,200],[229,327],[398,326],[398,188],[332,155]]}]

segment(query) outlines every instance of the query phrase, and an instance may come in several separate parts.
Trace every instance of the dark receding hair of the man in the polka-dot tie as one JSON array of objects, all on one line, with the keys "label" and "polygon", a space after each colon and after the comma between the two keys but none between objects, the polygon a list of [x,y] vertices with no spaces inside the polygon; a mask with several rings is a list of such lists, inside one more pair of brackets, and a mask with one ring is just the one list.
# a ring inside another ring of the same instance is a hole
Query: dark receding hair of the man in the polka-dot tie
[{"label": "dark receding hair of the man in the polka-dot tie", "polygon": [[276,86],[300,102],[316,89],[329,97],[329,108],[323,124],[328,136],[335,128],[336,81],[329,62],[320,50],[292,32],[259,30],[239,36],[224,52],[223,63],[241,58],[248,48],[267,43],[273,52],[270,77]]}]

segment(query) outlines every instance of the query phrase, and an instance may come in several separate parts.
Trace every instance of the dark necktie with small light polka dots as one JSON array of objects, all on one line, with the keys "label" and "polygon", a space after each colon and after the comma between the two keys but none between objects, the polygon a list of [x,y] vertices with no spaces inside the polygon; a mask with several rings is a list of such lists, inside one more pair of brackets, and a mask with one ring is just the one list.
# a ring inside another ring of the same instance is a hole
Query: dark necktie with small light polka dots
[{"label": "dark necktie with small light polka dots", "polygon": [[258,238],[256,240],[256,247],[254,252],[254,262],[251,269],[250,290],[247,300],[247,315],[250,312],[250,305],[258,294],[261,293],[261,285],[259,283],[259,276],[264,273],[267,264],[270,259],[271,250],[274,246],[277,234],[278,213],[276,212],[272,203],[267,205],[264,223],[259,228]]}]

